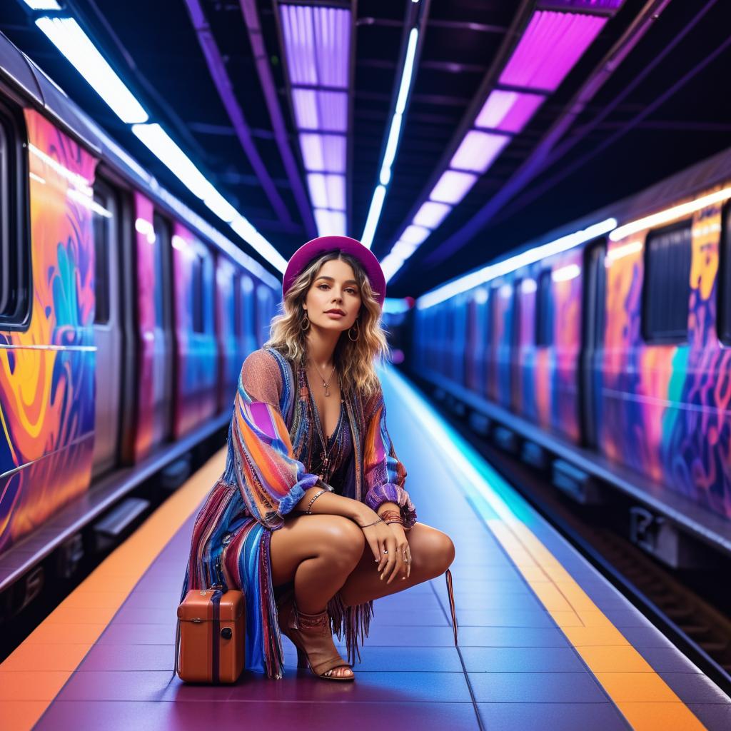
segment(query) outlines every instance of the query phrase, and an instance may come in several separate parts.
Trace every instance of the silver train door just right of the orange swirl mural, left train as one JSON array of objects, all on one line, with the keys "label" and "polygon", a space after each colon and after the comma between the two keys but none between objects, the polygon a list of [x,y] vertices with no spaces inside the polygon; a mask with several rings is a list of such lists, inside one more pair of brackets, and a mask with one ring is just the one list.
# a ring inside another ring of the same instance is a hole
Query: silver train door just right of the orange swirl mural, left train
[{"label": "silver train door just right of the orange swirl mural, left train", "polygon": [[120,311],[121,206],[112,186],[94,183],[94,344],[96,345],[96,422],[92,477],[118,461],[122,379]]}]

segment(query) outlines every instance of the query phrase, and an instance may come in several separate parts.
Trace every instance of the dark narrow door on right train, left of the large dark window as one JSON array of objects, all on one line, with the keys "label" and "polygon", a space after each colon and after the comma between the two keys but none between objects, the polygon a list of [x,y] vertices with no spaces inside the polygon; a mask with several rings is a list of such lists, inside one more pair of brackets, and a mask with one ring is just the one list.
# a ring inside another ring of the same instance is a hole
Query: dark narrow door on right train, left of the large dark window
[{"label": "dark narrow door on right train, left of the large dark window", "polygon": [[599,358],[604,344],[605,325],[605,255],[607,242],[601,239],[584,250],[584,281],[582,292],[581,356],[579,377],[579,411],[583,444],[596,447],[596,414],[599,385],[596,382]]}]

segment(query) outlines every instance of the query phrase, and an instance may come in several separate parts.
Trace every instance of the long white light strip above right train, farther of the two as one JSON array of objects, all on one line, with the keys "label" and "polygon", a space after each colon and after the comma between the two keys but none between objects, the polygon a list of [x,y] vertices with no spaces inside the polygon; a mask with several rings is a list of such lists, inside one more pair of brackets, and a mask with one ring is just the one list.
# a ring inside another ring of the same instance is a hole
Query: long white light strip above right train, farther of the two
[{"label": "long white light strip above right train, farther of the two", "polygon": [[[489,264],[482,269],[466,274],[465,276],[455,279],[453,281],[444,284],[442,287],[433,289],[431,292],[423,295],[417,300],[417,307],[425,309],[433,305],[444,302],[461,292],[466,292],[472,287],[477,287],[478,284],[485,284],[486,281],[496,279],[496,277],[503,276],[504,274],[510,273],[519,269],[520,267],[532,264],[533,262],[540,261],[546,257],[550,257],[553,254],[558,254],[561,251],[567,251],[573,249],[574,246],[578,246],[580,243],[591,241],[591,239],[597,236],[602,236],[609,233],[616,228],[616,219],[605,219],[599,221],[597,224],[593,224],[585,229],[575,231],[566,236],[561,236],[556,240],[544,243],[541,246],[534,246],[533,249],[528,251],[521,251],[520,254],[515,254],[513,257],[504,259],[495,264]],[[611,238],[611,236],[610,236]]]}]

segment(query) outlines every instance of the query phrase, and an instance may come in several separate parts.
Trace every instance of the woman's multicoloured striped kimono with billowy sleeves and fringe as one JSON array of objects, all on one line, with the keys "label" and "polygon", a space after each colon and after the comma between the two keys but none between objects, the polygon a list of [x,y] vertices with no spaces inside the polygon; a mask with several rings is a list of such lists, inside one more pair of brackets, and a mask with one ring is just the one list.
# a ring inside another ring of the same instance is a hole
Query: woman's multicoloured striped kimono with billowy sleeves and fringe
[{"label": "woman's multicoloured striped kimono with billowy sleeves and fringe", "polygon": [[[275,349],[257,350],[243,363],[228,434],[226,468],[195,520],[181,601],[190,589],[241,588],[246,599],[246,667],[281,678],[283,655],[270,569],[270,537],[305,491],[323,484],[300,457],[313,452],[303,371]],[[386,429],[383,393],[343,395],[352,457],[336,491],[376,510],[386,501],[401,508],[404,527],[416,511],[404,490],[406,469]],[[307,463],[308,459],[305,460]],[[373,602],[344,607],[339,592],[327,605],[348,659],[360,657]],[[176,648],[177,656],[177,648]]]}]

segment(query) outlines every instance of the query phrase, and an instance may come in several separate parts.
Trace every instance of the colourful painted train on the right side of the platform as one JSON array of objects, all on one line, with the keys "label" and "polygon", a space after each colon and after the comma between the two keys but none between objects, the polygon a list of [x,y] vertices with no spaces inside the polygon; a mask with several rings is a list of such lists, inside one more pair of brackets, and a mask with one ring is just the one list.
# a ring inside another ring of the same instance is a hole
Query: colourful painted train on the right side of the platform
[{"label": "colourful painted train on the right side of the platform", "polygon": [[601,500],[592,481],[632,496],[633,534],[673,565],[692,564],[678,535],[731,554],[729,200],[726,151],[428,292],[414,316],[414,375],[573,463],[553,477],[580,501]]}]

